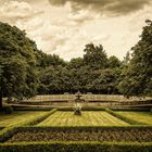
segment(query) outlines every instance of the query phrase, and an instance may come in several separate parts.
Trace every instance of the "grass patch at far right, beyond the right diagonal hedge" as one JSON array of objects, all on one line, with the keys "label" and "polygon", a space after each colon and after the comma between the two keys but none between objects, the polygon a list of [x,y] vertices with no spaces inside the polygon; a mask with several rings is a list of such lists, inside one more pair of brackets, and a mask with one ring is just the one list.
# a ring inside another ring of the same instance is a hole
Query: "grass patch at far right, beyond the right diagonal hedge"
[{"label": "grass patch at far right, beyond the right diagonal hedge", "polygon": [[152,114],[150,112],[116,112],[127,118],[143,123],[145,125],[152,125]]}]

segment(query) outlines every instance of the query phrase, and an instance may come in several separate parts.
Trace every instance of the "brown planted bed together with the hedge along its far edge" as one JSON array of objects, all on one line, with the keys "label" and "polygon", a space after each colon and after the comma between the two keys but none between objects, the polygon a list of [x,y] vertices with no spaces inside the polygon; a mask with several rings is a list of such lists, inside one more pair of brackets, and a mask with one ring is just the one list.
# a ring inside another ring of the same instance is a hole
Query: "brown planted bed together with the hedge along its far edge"
[{"label": "brown planted bed together with the hedge along its far edge", "polygon": [[151,142],[152,127],[23,127],[5,142],[21,141]]}]

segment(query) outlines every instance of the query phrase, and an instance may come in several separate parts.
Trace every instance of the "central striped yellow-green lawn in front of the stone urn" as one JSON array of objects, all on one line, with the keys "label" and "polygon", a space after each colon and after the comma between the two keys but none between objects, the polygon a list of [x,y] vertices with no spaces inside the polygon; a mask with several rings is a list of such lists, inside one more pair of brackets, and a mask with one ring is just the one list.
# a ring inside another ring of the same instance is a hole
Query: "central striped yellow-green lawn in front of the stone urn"
[{"label": "central striped yellow-green lawn in front of the stone urn", "polygon": [[124,126],[129,125],[106,112],[83,112],[81,116],[74,112],[55,112],[38,126]]}]

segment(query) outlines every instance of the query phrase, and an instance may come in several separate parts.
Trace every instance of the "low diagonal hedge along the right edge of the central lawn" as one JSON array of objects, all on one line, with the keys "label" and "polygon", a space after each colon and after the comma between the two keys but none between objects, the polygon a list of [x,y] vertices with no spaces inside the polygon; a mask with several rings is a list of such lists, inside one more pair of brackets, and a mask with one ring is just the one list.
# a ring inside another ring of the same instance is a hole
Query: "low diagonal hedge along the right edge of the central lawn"
[{"label": "low diagonal hedge along the right edge of the central lawn", "polygon": [[115,116],[115,117],[117,117],[117,118],[119,118],[119,119],[122,119],[122,121],[124,121],[124,122],[126,122],[126,123],[129,123],[130,125],[145,125],[144,123],[140,123],[140,122],[138,122],[138,121],[130,119],[130,118],[128,118],[128,117],[126,117],[126,116],[123,116],[123,115],[121,115],[121,114],[117,114],[117,113],[115,113],[114,111],[111,111],[111,110],[109,110],[109,109],[105,109],[105,111],[106,111],[107,113],[110,113],[111,115],[113,115],[113,116]]}]

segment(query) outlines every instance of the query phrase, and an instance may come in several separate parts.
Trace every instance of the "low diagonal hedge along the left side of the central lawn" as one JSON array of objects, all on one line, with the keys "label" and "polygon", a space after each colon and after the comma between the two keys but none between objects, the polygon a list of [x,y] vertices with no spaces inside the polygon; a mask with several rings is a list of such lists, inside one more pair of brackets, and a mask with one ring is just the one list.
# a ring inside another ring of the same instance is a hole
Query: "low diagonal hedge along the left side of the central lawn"
[{"label": "low diagonal hedge along the left side of the central lawn", "polygon": [[10,138],[15,132],[17,132],[20,127],[28,126],[28,125],[37,125],[55,112],[56,112],[56,109],[53,109],[52,111],[50,111],[49,113],[47,113],[42,116],[38,116],[36,118],[29,119],[26,123],[23,123],[23,124],[20,124],[20,125],[14,125],[14,126],[11,126],[11,127],[7,127],[7,128],[0,130],[0,142],[5,141],[8,138]]}]

